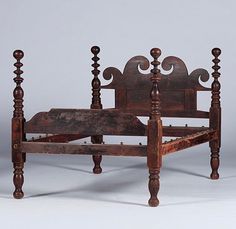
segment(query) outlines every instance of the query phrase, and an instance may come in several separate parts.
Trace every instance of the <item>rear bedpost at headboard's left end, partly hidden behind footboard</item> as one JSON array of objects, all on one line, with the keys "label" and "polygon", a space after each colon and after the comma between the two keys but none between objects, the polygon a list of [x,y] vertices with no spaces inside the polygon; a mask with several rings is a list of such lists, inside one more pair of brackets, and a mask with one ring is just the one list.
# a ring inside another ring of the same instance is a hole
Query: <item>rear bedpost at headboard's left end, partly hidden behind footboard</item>
[{"label": "rear bedpost at headboard's left end, partly hidden behind footboard", "polygon": [[[98,63],[99,57],[98,53],[100,52],[100,48],[98,46],[93,46],[91,48],[91,52],[93,53],[93,80],[92,80],[92,104],[91,104],[91,109],[102,109],[102,103],[101,103],[101,82],[98,78],[98,75],[100,73],[100,70],[98,69],[100,64]],[[103,142],[103,136],[102,135],[96,135],[91,137],[91,141],[93,144],[101,144]],[[95,174],[99,174],[102,172],[101,168],[101,161],[102,161],[102,156],[97,154],[93,155],[93,162],[94,162],[94,168],[93,172]]]}]

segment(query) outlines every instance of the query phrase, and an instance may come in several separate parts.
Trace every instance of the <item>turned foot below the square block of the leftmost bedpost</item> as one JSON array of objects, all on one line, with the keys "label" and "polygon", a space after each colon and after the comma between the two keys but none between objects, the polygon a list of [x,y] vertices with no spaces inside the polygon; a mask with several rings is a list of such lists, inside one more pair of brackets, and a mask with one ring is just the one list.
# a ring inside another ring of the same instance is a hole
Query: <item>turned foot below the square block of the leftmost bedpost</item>
[{"label": "turned foot below the square block of the leftmost bedpost", "polygon": [[22,186],[24,183],[24,163],[23,162],[16,162],[13,163],[14,167],[14,176],[13,176],[13,183],[15,185],[15,191],[13,192],[13,196],[16,199],[21,199],[24,197],[24,192],[22,191]]}]

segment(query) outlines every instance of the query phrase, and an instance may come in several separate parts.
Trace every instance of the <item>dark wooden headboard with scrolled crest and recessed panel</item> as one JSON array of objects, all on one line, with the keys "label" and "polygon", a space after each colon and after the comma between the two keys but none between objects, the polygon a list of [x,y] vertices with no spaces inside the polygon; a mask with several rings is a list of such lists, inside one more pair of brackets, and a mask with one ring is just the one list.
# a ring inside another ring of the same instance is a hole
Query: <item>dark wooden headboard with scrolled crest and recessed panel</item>
[{"label": "dark wooden headboard with scrolled crest and recessed panel", "polygon": [[[132,112],[137,116],[149,116],[151,73],[141,70],[149,68],[149,61],[144,56],[135,56],[125,65],[123,73],[114,67],[106,68],[103,77],[111,80],[103,89],[115,90],[115,108]],[[161,74],[159,82],[161,115],[163,117],[209,118],[208,111],[197,110],[197,91],[211,91],[202,86],[209,80],[209,73],[202,68],[188,74],[185,63],[174,56],[166,57],[161,63],[162,69],[171,71]]]}]

